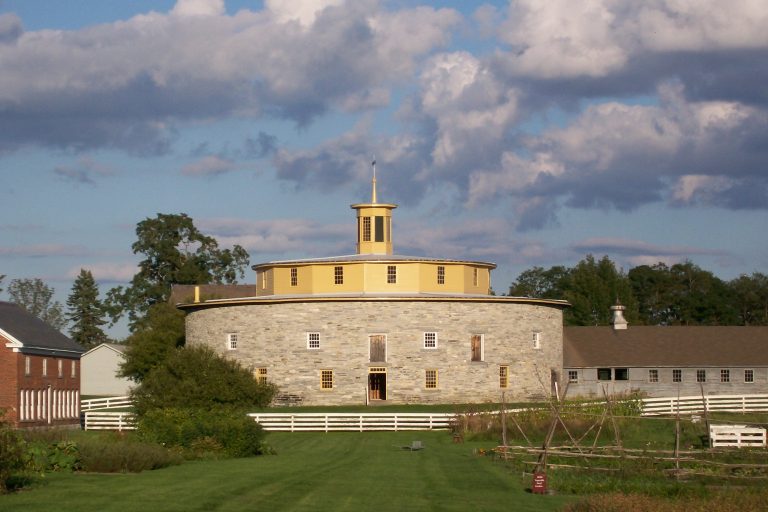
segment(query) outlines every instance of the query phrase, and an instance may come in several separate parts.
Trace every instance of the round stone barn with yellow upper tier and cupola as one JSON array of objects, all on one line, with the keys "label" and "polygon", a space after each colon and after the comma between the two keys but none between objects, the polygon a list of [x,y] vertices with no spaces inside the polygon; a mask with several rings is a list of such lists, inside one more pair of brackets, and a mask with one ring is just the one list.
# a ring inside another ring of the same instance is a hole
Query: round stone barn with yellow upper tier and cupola
[{"label": "round stone barn with yellow upper tier and cupola", "polygon": [[276,384],[277,403],[542,398],[563,365],[565,301],[491,295],[493,263],[396,255],[392,210],[357,212],[355,254],[254,265],[256,295],[180,304],[208,345]]}]

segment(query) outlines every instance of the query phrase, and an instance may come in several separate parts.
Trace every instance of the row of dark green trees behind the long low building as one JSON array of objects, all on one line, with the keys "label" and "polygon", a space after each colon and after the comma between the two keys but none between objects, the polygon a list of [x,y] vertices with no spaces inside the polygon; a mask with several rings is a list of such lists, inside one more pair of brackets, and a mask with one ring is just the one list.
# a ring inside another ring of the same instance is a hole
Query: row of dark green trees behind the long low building
[{"label": "row of dark green trees behind the long low building", "polygon": [[509,295],[567,300],[566,325],[608,325],[617,301],[637,325],[768,325],[768,276],[724,281],[690,261],[624,272],[608,256],[590,254],[573,267],[523,271]]}]

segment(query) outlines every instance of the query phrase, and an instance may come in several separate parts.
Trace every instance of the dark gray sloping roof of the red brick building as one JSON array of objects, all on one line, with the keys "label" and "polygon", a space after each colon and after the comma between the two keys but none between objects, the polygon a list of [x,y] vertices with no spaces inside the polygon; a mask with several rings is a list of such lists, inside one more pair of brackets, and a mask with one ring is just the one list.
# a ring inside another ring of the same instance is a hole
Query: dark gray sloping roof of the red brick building
[{"label": "dark gray sloping roof of the red brick building", "polygon": [[73,356],[85,349],[36,316],[0,301],[0,329],[22,343],[22,353]]}]

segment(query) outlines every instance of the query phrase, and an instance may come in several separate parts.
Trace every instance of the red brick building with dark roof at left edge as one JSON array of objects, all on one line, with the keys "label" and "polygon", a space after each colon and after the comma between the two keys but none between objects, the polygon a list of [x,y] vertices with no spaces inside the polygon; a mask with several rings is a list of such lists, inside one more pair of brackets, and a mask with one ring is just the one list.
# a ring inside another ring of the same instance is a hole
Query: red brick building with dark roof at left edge
[{"label": "red brick building with dark roof at left edge", "polygon": [[0,301],[0,409],[17,427],[80,421],[83,347],[34,315]]}]

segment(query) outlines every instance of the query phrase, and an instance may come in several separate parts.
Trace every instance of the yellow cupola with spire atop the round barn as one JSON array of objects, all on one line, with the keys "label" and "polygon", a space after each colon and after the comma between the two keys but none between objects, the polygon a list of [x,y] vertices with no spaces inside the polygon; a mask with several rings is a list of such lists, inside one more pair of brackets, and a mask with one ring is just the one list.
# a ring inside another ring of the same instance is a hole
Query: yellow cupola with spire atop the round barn
[{"label": "yellow cupola with spire atop the round barn", "polygon": [[371,202],[351,205],[357,210],[357,254],[392,254],[392,210],[396,204],[376,198],[376,161],[373,161]]}]

